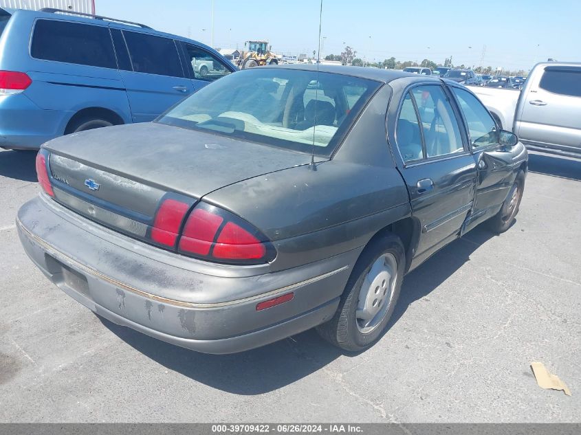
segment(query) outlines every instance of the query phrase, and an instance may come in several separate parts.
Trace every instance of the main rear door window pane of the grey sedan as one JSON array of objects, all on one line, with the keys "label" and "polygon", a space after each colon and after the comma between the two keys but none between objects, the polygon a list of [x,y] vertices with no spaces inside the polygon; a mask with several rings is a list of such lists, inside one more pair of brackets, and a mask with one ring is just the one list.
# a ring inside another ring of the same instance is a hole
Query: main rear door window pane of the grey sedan
[{"label": "main rear door window pane of the grey sedan", "polygon": [[424,133],[426,157],[464,150],[458,120],[446,93],[439,85],[422,85],[411,91]]}]

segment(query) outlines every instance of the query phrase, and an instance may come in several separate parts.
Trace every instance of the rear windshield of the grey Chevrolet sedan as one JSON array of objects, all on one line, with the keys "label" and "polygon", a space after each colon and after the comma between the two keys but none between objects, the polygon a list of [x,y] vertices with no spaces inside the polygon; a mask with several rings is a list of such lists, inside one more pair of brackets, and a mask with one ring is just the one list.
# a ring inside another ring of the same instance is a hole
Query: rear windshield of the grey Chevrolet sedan
[{"label": "rear windshield of the grey Chevrolet sedan", "polygon": [[221,78],[157,122],[261,144],[331,155],[375,80],[282,68],[254,68]]}]

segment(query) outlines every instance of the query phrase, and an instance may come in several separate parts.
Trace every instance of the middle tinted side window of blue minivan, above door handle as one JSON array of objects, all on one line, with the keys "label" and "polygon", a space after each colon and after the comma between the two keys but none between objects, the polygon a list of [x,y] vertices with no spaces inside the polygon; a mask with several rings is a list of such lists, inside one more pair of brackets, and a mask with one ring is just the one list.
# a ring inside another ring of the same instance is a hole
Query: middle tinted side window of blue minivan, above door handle
[{"label": "middle tinted side window of blue minivan, above door handle", "polygon": [[160,76],[184,77],[173,39],[123,31],[133,71]]}]

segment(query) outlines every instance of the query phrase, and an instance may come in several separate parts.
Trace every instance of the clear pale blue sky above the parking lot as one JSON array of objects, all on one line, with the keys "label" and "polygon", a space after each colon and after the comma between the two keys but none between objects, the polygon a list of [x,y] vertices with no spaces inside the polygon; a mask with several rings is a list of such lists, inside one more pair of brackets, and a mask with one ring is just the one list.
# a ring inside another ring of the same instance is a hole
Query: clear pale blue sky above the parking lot
[{"label": "clear pale blue sky above the parking lot", "polygon": [[[96,0],[98,14],[210,45],[211,0]],[[317,48],[319,0],[215,0],[214,46],[267,39],[279,54]],[[347,43],[367,60],[529,69],[581,60],[581,0],[323,0],[322,55]],[[485,46],[485,50],[484,50]]]}]

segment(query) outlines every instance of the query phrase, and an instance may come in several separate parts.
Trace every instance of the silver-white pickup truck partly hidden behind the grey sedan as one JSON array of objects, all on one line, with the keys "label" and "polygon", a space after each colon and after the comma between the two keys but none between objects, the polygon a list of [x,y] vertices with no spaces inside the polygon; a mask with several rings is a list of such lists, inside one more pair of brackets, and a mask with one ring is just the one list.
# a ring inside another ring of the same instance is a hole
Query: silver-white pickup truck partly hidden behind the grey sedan
[{"label": "silver-white pickup truck partly hidden behind the grey sedan", "polygon": [[470,90],[527,148],[581,157],[581,63],[538,63],[520,91]]}]

